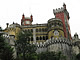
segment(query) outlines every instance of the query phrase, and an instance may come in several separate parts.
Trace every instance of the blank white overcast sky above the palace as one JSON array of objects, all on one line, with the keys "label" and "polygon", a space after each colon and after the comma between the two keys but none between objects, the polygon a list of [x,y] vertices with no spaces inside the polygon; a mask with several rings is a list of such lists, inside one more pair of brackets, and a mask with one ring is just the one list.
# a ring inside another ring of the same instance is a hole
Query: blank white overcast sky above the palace
[{"label": "blank white overcast sky above the palace", "polygon": [[80,1],[79,0],[0,0],[0,26],[5,29],[6,23],[21,24],[22,14],[33,15],[33,24],[47,23],[54,18],[53,9],[63,7],[69,12],[71,35],[80,37]]}]

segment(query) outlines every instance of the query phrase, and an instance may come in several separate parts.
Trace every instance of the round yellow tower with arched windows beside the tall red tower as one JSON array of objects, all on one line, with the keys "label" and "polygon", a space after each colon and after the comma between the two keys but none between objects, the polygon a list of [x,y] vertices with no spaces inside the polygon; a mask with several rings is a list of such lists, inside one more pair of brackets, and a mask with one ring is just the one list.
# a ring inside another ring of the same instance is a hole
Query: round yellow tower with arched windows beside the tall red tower
[{"label": "round yellow tower with arched windows beside the tall red tower", "polygon": [[48,20],[48,39],[64,37],[63,23],[60,19]]}]

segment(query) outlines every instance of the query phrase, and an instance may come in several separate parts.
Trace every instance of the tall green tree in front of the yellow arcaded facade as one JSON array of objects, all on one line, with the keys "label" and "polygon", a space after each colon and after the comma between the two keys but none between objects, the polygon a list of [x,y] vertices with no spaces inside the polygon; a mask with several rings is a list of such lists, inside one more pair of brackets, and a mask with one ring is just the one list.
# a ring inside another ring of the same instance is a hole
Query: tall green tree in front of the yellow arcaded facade
[{"label": "tall green tree in front of the yellow arcaded facade", "polygon": [[30,36],[32,33],[29,31],[20,31],[17,35],[16,40],[16,49],[18,57],[19,55],[23,57],[23,60],[26,60],[26,54],[35,52],[35,45],[29,43]]}]

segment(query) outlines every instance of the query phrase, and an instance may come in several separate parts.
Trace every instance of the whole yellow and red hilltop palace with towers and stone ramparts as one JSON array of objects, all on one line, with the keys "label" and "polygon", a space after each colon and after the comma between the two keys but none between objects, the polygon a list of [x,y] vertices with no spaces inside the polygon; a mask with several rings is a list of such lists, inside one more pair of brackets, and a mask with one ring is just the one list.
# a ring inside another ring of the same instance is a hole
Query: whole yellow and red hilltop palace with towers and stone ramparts
[{"label": "whole yellow and red hilltop palace with towers and stone ramparts", "polygon": [[[72,54],[80,52],[80,39],[77,33],[74,38],[71,37],[69,26],[69,13],[66,9],[66,4],[58,9],[53,9],[55,18],[50,18],[46,24],[32,24],[33,16],[25,17],[22,15],[21,25],[18,23],[7,23],[4,32],[9,37],[9,43],[14,46],[17,33],[20,30],[30,31],[33,36],[30,37],[30,43],[37,45],[37,53],[45,51],[61,51],[67,60],[71,59]],[[7,37],[7,38],[8,38]]]}]

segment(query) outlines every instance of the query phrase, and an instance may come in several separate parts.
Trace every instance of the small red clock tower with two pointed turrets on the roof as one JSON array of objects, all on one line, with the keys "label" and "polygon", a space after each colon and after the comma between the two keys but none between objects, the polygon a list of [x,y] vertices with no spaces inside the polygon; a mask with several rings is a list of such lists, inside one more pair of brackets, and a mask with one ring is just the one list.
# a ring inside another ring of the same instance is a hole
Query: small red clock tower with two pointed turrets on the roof
[{"label": "small red clock tower with two pointed turrets on the roof", "polygon": [[33,16],[31,15],[30,17],[25,17],[25,15],[22,15],[22,19],[21,19],[21,25],[31,25],[33,22]]}]

